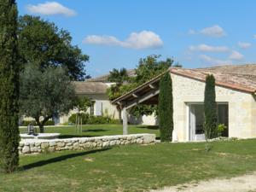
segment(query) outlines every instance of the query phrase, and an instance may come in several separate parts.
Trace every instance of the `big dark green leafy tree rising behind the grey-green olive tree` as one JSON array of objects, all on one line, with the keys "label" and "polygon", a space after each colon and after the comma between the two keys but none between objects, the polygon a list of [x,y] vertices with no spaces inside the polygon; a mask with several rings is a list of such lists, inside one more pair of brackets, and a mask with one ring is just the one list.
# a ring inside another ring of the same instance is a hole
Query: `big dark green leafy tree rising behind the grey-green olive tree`
[{"label": "big dark green leafy tree rising behind the grey-green olive tree", "polygon": [[89,60],[66,30],[59,30],[54,23],[31,15],[19,19],[18,40],[23,63],[32,63],[44,71],[47,67],[66,67],[73,80],[88,78],[84,62]]}]

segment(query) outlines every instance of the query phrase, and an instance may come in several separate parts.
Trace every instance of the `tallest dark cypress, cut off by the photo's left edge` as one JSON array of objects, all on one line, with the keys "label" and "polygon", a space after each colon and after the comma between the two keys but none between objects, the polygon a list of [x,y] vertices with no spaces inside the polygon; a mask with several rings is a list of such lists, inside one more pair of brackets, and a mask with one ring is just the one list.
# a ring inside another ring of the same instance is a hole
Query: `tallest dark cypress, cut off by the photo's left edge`
[{"label": "tallest dark cypress, cut off by the photo's left edge", "polygon": [[19,163],[19,62],[15,0],[0,0],[0,170],[14,172]]}]

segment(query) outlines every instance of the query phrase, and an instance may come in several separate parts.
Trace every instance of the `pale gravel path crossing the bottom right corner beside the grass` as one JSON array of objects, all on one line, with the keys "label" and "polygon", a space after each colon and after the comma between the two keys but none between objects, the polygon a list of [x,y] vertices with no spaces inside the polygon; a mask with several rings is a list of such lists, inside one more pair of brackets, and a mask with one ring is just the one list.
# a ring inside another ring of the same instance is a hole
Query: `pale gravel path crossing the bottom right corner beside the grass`
[{"label": "pale gravel path crossing the bottom right corner beside the grass", "polygon": [[230,179],[211,179],[199,183],[185,183],[151,192],[253,192],[256,191],[256,172]]}]

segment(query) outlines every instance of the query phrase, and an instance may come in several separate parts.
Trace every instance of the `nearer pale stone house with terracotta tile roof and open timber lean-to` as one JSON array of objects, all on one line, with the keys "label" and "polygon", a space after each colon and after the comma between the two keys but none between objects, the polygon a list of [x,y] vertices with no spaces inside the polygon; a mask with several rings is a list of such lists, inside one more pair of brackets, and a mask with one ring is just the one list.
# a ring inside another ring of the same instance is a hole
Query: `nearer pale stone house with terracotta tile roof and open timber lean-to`
[{"label": "nearer pale stone house with terracotta tile roof and open timber lean-to", "polygon": [[[227,126],[227,137],[256,137],[256,65],[170,68],[173,95],[173,140],[203,140],[205,79],[216,79],[218,123]],[[127,110],[138,103],[157,104],[160,76],[113,101],[123,110],[124,134],[128,132]]]}]

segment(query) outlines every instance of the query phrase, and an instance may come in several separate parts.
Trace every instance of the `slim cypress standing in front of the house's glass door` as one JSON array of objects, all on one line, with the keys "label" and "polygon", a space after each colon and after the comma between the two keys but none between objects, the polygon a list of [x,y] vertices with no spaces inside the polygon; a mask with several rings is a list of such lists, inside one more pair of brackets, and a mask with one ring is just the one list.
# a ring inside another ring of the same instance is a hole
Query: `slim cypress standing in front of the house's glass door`
[{"label": "slim cypress standing in front of the house's glass door", "polygon": [[217,103],[215,94],[215,79],[207,75],[204,99],[205,124],[204,130],[207,139],[218,137],[217,131]]}]

